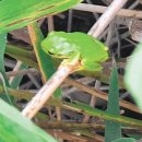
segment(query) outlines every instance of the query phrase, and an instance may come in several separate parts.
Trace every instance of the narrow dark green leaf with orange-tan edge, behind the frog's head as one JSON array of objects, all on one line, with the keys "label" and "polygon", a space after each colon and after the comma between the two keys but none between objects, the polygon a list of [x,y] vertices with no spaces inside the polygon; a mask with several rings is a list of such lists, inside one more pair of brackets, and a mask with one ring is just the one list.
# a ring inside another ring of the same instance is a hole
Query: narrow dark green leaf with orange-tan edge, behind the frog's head
[{"label": "narrow dark green leaf with orange-tan edge, behind the frog's head", "polygon": [[[36,22],[28,27],[28,32],[32,37],[32,43],[37,58],[39,71],[42,73],[43,80],[46,82],[56,71],[54,61],[50,56],[48,56],[42,49],[40,43],[44,40],[44,35],[42,34],[42,31]],[[54,93],[54,96],[60,98],[61,90],[57,88],[57,91]]]}]

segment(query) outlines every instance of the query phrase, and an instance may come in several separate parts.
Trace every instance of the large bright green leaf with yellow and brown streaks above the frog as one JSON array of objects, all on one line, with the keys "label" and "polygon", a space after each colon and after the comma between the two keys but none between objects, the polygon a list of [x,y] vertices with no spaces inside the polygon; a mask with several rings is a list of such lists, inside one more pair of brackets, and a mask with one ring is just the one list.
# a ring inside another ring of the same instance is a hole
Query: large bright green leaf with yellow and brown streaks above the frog
[{"label": "large bright green leaf with yellow and brown streaks above the frog", "polygon": [[0,33],[28,25],[38,19],[70,9],[82,0],[1,0]]}]

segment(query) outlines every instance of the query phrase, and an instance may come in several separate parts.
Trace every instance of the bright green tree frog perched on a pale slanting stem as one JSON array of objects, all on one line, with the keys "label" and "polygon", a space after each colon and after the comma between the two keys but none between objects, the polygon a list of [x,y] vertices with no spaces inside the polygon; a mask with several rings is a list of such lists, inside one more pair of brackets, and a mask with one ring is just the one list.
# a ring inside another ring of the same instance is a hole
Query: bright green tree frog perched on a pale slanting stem
[{"label": "bright green tree frog perched on a pale slanting stem", "polygon": [[79,70],[100,71],[102,62],[108,59],[108,47],[82,32],[50,32],[42,42],[43,50],[62,60],[78,59]]}]

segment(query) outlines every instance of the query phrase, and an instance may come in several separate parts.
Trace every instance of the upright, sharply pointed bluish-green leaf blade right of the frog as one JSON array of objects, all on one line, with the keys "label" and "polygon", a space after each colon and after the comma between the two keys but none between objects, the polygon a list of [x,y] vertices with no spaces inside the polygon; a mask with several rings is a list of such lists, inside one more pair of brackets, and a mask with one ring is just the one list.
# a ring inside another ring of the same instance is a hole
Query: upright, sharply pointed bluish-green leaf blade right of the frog
[{"label": "upright, sharply pointed bluish-green leaf blade right of the frog", "polygon": [[[113,115],[119,115],[120,114],[119,87],[118,87],[118,72],[117,72],[116,62],[114,62],[113,64],[109,82],[110,85],[109,85],[109,93],[108,93],[107,113]],[[105,123],[106,123],[105,142],[111,142],[113,140],[121,138],[121,125],[119,122],[107,120]]]}]

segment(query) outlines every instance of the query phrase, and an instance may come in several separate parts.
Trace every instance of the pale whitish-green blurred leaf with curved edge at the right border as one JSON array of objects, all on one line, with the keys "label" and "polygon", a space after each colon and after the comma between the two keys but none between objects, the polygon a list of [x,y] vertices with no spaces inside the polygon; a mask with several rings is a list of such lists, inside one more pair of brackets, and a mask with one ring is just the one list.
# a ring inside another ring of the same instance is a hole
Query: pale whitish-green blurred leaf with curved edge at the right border
[{"label": "pale whitish-green blurred leaf with curved edge at the right border", "polygon": [[142,110],[142,44],[140,44],[128,60],[125,82],[128,91]]}]

